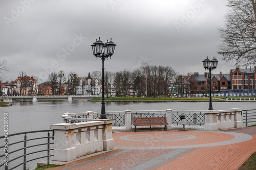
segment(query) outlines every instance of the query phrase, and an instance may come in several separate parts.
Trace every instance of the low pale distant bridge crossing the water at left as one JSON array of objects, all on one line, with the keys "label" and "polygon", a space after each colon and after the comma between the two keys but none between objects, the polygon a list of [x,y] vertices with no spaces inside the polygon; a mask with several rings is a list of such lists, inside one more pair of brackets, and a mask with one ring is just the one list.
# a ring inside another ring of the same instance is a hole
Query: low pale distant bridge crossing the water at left
[{"label": "low pale distant bridge crossing the water at left", "polygon": [[101,95],[6,95],[5,98],[9,99],[67,99],[72,101],[73,99],[94,99],[101,98]]}]

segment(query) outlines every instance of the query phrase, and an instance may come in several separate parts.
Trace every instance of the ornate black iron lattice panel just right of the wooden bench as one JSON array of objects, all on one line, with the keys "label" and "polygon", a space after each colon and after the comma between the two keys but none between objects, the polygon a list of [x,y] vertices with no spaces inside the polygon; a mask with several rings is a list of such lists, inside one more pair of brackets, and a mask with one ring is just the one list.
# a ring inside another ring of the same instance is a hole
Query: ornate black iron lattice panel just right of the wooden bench
[{"label": "ornate black iron lattice panel just right of the wooden bench", "polygon": [[180,115],[185,114],[186,124],[189,125],[200,125],[204,124],[205,115],[202,112],[173,112],[172,113],[172,124],[180,123]]}]

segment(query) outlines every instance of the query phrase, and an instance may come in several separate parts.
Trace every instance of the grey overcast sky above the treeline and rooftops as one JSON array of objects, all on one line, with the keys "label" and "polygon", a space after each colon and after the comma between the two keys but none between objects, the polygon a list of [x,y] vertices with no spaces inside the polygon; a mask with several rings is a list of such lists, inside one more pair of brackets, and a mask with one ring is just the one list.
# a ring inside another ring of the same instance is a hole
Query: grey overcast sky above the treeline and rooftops
[{"label": "grey overcast sky above the treeline and rooftops", "polygon": [[171,66],[179,74],[205,71],[202,61],[216,56],[214,73],[231,63],[217,54],[218,27],[226,0],[0,0],[0,57],[15,80],[20,71],[46,79],[51,71],[79,76],[101,70],[91,44],[99,38],[117,44],[105,70],[133,70],[147,62]]}]

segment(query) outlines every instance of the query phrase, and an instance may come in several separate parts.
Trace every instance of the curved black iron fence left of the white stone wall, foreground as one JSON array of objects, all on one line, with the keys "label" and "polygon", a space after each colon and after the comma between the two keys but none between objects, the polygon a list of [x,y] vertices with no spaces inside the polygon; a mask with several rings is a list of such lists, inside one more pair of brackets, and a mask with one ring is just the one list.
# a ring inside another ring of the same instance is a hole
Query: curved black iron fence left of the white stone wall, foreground
[{"label": "curved black iron fence left of the white stone wall, foreground", "polygon": [[[48,132],[47,135],[45,134],[44,136],[41,134],[44,132]],[[32,133],[40,135],[32,138]],[[52,133],[52,135],[50,133]],[[0,155],[0,158],[4,158],[4,163],[0,164],[0,169],[5,168],[5,170],[11,170],[23,165],[23,169],[25,170],[27,162],[41,158],[47,158],[47,164],[49,165],[50,157],[53,156],[50,154],[50,151],[53,150],[50,148],[50,145],[53,144],[50,139],[54,140],[53,130],[30,131],[0,136],[0,140],[3,141],[0,144],[0,149],[4,151],[4,154]],[[13,142],[9,143],[9,141]],[[40,146],[45,146],[45,148],[41,149]],[[14,148],[14,150],[12,148]],[[36,153],[41,153],[41,155],[36,156]],[[28,156],[30,156],[31,159],[28,159]],[[13,163],[13,167],[11,167],[12,162],[15,162]],[[22,168],[19,167],[19,169]]]}]

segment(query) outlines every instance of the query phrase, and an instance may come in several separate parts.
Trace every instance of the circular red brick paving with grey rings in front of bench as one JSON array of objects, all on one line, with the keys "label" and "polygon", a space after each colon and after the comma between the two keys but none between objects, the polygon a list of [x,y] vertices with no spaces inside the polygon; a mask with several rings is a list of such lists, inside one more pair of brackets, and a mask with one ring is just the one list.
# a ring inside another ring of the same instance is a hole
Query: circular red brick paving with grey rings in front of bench
[{"label": "circular red brick paving with grey rings in front of bench", "polygon": [[113,133],[116,149],[178,149],[214,147],[252,139],[235,132],[155,131]]}]

